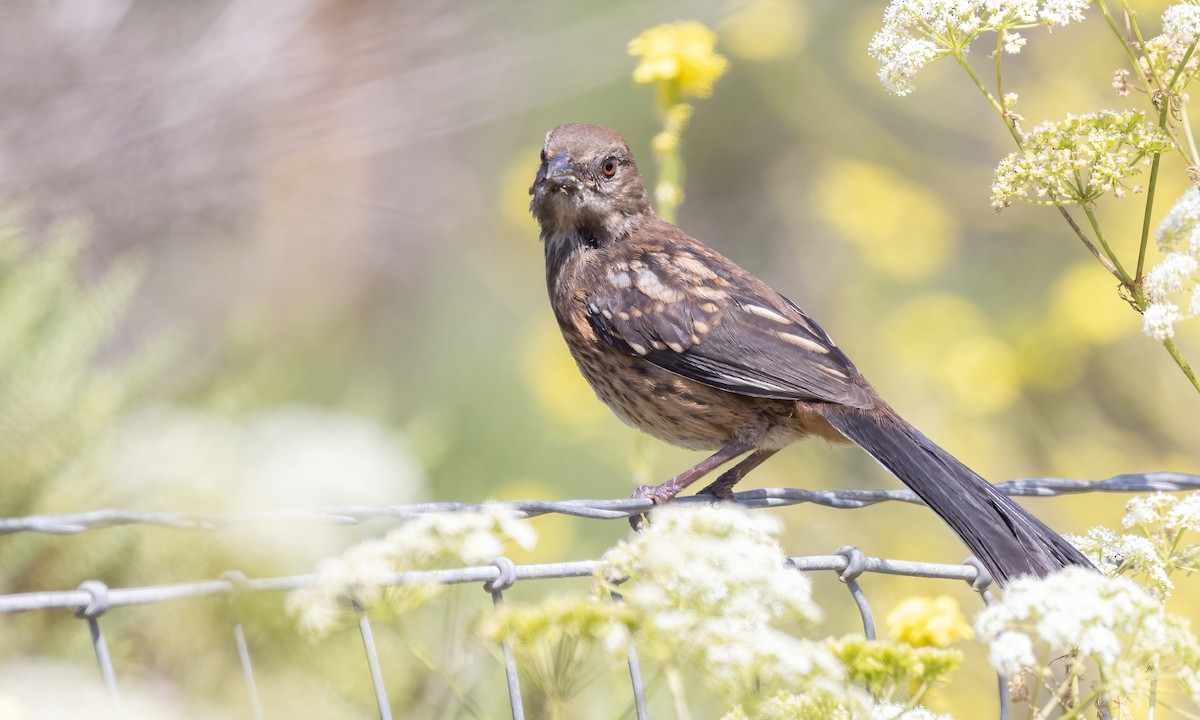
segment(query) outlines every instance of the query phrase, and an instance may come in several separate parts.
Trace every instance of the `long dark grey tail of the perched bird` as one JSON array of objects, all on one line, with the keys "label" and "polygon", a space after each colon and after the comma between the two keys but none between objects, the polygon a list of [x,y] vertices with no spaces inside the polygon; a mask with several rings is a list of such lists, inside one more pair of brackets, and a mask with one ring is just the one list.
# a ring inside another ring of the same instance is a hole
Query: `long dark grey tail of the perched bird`
[{"label": "long dark grey tail of the perched bird", "polygon": [[822,414],[912,488],[1000,584],[1068,565],[1092,566],[1061,535],[889,408],[865,412],[830,404]]}]

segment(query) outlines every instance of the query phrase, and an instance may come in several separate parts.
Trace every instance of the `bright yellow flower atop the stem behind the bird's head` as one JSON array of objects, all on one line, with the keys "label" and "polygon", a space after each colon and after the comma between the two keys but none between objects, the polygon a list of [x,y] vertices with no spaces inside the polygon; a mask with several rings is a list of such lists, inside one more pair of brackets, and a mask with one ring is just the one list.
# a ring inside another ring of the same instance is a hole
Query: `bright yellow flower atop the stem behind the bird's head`
[{"label": "bright yellow flower atop the stem behind the bird's head", "polygon": [[708,97],[730,66],[718,54],[716,34],[703,23],[659,25],[629,41],[629,54],[641,58],[634,68],[636,83],[670,83],[676,94]]}]

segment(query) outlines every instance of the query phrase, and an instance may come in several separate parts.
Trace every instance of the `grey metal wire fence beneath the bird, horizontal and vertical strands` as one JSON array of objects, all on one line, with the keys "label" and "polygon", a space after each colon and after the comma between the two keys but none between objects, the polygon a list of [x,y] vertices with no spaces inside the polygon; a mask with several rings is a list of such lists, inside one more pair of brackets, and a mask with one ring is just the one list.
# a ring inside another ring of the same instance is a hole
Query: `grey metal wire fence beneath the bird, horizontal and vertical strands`
[{"label": "grey metal wire fence beneath the bird, horizontal and vertical strands", "polygon": [[[997,484],[1001,492],[1010,496],[1062,497],[1082,492],[1171,492],[1200,490],[1200,475],[1181,473],[1150,473],[1117,475],[1108,480],[1085,481],[1064,479],[1022,479]],[[800,488],[766,488],[737,493],[737,500],[749,508],[779,508],[812,503],[829,508],[853,509],[882,502],[919,503],[908,491],[841,490],[814,492]],[[702,498],[679,498],[677,502],[709,502]],[[641,499],[622,500],[522,500],[496,503],[521,517],[560,514],[594,520],[624,520],[649,510],[650,504]],[[0,520],[0,534],[44,533],[76,534],[110,528],[114,526],[144,524],[182,530],[220,530],[234,526],[264,522],[312,522],[324,524],[358,524],[377,518],[412,518],[428,512],[476,510],[480,504],[470,503],[421,503],[412,505],[360,506],[347,505],[308,510],[287,510],[268,514],[224,515],[190,512],[138,512],[127,510],[96,510],[70,515],[37,515]],[[856,547],[840,547],[833,554],[805,556],[788,559],[791,566],[802,572],[834,572],[848,589],[862,619],[868,638],[875,638],[875,619],[866,594],[858,578],[868,572],[901,575],[930,580],[954,580],[967,582],[979,593],[983,602],[991,602],[989,587],[991,577],[973,558],[965,563],[938,564],[889,558],[868,557]],[[379,580],[380,586],[404,586],[415,583],[472,584],[480,583],[492,595],[496,605],[504,602],[504,592],[517,582],[587,577],[599,560],[565,563],[516,564],[499,557],[487,565],[428,570],[420,572],[396,572]],[[152,587],[109,588],[100,580],[88,580],[73,590],[47,590],[0,594],[0,616],[22,612],[71,611],[85,622],[91,637],[101,679],[108,692],[114,713],[121,714],[121,695],[116,682],[116,668],[108,650],[101,618],[118,608],[170,602],[186,598],[215,596],[235,599],[254,593],[280,593],[313,587],[317,575],[292,575],[250,578],[239,571],[227,571],[216,578]],[[614,598],[619,601],[619,598]],[[380,719],[392,716],[389,703],[385,673],[379,662],[379,653],[370,620],[362,607],[355,607],[359,634],[362,641],[367,670],[376,695]],[[2,619],[0,619],[2,622]],[[230,628],[230,638],[236,649],[246,685],[246,696],[253,718],[264,716],[257,691],[254,671],[246,644],[241,622]],[[520,672],[512,648],[504,643],[502,656],[509,690],[509,704],[514,720],[524,718],[521,698]],[[628,648],[630,694],[638,720],[648,718],[644,683],[641,677],[636,648]],[[997,679],[998,715],[1009,715],[1007,679]]]}]

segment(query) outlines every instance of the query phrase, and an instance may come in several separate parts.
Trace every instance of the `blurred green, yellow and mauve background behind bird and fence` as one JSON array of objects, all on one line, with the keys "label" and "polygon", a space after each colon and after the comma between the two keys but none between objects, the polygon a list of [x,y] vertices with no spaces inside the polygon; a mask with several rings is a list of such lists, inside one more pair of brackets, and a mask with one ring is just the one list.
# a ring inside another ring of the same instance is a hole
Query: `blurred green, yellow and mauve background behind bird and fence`
[{"label": "blurred green, yellow and mauve background behind bird and fence", "polygon": [[[1157,31],[1165,4],[1144,5]],[[992,211],[1012,139],[970,80],[943,61],[912,96],[884,94],[866,55],[883,7],[5,2],[0,515],[614,498],[696,462],[640,439],[578,378],[527,209],[542,137],[560,122],[617,128],[653,174],[653,89],[630,79],[625,46],[676,19],[716,30],[732,64],[684,137],[685,230],[804,307],[893,406],[994,481],[1200,473],[1200,397],[1115,281],[1052,210]],[[1124,56],[1090,12],[1052,36],[1030,31],[1006,59],[1027,126],[1145,107],[1110,88]],[[1168,169],[1158,217],[1186,188]],[[1140,196],[1102,204],[1122,257],[1136,253],[1141,211]],[[1177,342],[1200,360],[1200,325],[1181,324]],[[860,451],[811,443],[743,486],[898,481]],[[1022,503],[1081,533],[1116,527],[1124,499]],[[922,508],[778,512],[793,554],[965,554]],[[628,532],[534,523],[542,541],[518,560],[594,558]],[[305,572],[388,527],[10,535],[0,592]],[[854,631],[845,589],[816,584],[820,634]],[[937,593],[977,607],[965,586],[863,584],[883,611]],[[487,600],[463,593],[468,610]],[[280,607],[240,608],[269,715],[370,716],[355,636],[308,643]],[[229,612],[185,601],[106,618],[119,679],[148,716],[244,712]],[[463,659],[479,644],[470,628],[431,612],[439,656],[479,697],[500,691],[491,658]],[[0,637],[13,713],[74,716],[71,703],[102,697],[66,613],[2,617]],[[472,716],[404,642],[383,644],[402,716]],[[930,706],[971,716],[991,697],[982,649],[967,654]]]}]

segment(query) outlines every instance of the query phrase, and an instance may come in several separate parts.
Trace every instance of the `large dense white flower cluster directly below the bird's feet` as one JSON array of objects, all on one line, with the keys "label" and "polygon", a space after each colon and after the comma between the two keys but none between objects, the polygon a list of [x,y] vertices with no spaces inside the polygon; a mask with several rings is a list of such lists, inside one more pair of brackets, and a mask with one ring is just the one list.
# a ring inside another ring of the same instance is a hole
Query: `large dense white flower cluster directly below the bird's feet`
[{"label": "large dense white flower cluster directly below the bird's feet", "polygon": [[787,566],[781,527],[734,505],[672,504],[605,553],[596,576],[635,613],[635,634],[666,658],[692,658],[732,695],[746,688],[842,688],[823,646],[773,628],[821,618],[809,580]]}]

